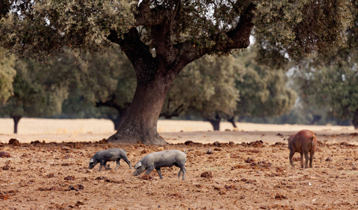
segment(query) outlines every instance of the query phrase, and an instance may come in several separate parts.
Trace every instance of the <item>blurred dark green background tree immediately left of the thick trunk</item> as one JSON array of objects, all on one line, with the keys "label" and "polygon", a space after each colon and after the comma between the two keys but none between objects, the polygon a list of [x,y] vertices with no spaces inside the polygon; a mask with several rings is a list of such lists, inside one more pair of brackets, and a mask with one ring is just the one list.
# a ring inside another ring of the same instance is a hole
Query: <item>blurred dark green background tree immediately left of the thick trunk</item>
[{"label": "blurred dark green background tree immediately left of the thick trunk", "polygon": [[108,118],[118,129],[135,92],[135,71],[118,45],[104,53],[67,50],[57,62],[48,64],[70,69],[61,77],[69,85],[69,97],[56,118]]}]

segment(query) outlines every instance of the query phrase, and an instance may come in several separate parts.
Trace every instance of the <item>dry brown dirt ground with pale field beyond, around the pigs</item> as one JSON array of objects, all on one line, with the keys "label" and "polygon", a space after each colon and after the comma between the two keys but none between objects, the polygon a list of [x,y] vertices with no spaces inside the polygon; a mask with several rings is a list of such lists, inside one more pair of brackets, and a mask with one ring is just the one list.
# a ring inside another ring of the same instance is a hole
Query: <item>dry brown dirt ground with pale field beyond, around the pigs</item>
[{"label": "dry brown dirt ground with pale field beyond, around the pigs", "polygon": [[[240,123],[237,131],[208,132],[201,122],[163,120],[158,131],[171,144],[161,147],[105,144],[100,140],[113,131],[104,120],[24,119],[22,126],[34,127],[16,135],[6,130],[11,120],[1,120],[0,209],[358,209],[358,133],[352,127]],[[319,140],[310,169],[298,167],[299,154],[291,167],[282,141],[301,129]],[[192,150],[186,180],[178,179],[177,167],[163,168],[163,179],[155,171],[133,176],[123,161],[118,170],[88,169],[92,155],[115,147],[126,149],[132,167],[151,152]]]}]

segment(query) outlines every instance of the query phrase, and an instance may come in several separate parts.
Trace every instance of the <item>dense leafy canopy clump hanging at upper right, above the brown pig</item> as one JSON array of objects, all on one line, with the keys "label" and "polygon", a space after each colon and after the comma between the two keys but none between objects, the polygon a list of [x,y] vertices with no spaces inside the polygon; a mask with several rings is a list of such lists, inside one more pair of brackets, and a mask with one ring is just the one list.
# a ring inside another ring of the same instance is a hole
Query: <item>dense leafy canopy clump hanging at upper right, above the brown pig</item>
[{"label": "dense leafy canopy clump hanging at upper right, above the brown pig", "polygon": [[[346,46],[357,3],[351,1],[264,1],[254,19],[259,55],[269,66],[301,61],[307,55],[316,60],[336,55]],[[342,30],[342,31],[339,31]],[[287,59],[289,57],[290,59]]]}]

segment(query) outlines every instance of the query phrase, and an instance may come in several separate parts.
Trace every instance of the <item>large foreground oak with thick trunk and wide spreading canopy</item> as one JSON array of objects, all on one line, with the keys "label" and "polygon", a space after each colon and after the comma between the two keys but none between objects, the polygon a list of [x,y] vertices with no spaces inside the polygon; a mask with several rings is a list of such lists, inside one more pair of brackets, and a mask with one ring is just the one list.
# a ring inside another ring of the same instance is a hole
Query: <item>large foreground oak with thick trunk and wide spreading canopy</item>
[{"label": "large foreground oak with thick trunk and wide spreading canopy", "polygon": [[264,47],[301,59],[336,49],[351,18],[348,0],[9,1],[0,44],[13,52],[57,55],[69,45],[89,51],[109,42],[121,46],[137,87],[120,129],[108,141],[144,144],[165,144],[156,127],[165,96],[195,59],[247,48],[253,28]]}]

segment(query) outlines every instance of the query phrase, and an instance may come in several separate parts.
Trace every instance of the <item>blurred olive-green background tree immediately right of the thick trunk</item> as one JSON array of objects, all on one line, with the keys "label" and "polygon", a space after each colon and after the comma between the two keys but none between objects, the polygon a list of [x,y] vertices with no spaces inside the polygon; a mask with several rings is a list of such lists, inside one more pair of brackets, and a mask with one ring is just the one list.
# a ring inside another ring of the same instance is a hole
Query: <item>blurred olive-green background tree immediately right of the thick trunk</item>
[{"label": "blurred olive-green background tree immediately right of the thick trunk", "polygon": [[202,116],[219,130],[221,118],[233,116],[239,92],[233,56],[204,56],[184,68],[172,83],[161,116]]}]

